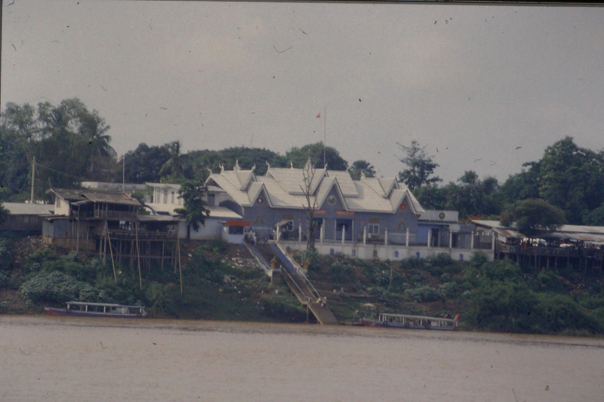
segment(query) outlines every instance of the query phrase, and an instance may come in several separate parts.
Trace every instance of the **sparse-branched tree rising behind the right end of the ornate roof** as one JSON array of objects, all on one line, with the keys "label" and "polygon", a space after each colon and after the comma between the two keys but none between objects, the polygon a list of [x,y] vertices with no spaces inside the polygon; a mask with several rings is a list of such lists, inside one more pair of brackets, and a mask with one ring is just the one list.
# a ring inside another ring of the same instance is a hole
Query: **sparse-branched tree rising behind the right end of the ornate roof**
[{"label": "sparse-branched tree rising behind the right end of the ornate roof", "polygon": [[396,143],[405,156],[399,157],[400,162],[408,166],[402,172],[399,172],[399,179],[405,181],[411,189],[417,189],[424,184],[432,184],[442,181],[440,177],[434,176],[434,169],[439,167],[438,163],[433,162],[434,155],[428,155],[425,151],[426,146],[420,147],[416,140],[411,141],[411,146]]}]

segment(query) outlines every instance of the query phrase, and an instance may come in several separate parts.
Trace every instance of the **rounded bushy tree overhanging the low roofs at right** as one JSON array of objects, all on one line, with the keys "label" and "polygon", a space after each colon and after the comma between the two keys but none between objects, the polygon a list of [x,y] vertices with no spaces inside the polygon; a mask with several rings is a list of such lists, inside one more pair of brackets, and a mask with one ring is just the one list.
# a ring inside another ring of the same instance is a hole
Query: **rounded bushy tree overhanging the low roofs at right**
[{"label": "rounded bushy tree overhanging the low roofs at right", "polygon": [[565,223],[564,211],[539,198],[516,201],[501,214],[502,225],[513,226],[528,237],[552,232]]}]

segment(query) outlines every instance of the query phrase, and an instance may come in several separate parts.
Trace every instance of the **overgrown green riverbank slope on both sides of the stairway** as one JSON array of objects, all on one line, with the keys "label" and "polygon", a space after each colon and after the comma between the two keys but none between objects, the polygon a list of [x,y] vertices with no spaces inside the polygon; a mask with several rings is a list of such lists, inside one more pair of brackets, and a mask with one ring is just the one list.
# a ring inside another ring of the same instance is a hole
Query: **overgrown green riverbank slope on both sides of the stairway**
[{"label": "overgrown green riverbank slope on both sides of the stairway", "polygon": [[[117,267],[95,256],[13,239],[12,271],[0,289],[0,313],[42,313],[68,300],[143,304],[155,318],[304,322],[306,311],[284,283],[271,283],[244,247],[182,243],[177,269]],[[394,312],[461,314],[465,330],[594,335],[604,333],[600,278],[571,271],[531,271],[509,261],[448,256],[403,262],[298,253],[336,318]]]}]

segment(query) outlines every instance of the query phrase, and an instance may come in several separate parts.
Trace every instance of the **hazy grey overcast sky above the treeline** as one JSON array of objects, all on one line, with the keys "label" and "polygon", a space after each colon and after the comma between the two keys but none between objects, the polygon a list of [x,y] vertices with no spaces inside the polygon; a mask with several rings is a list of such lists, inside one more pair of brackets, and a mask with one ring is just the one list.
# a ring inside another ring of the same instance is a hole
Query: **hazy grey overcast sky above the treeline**
[{"label": "hazy grey overcast sky above the treeline", "polygon": [[[0,103],[79,98],[118,154],[322,141],[384,177],[417,140],[445,183],[565,136],[604,147],[604,8],[2,2]],[[321,118],[316,118],[321,111]]]}]

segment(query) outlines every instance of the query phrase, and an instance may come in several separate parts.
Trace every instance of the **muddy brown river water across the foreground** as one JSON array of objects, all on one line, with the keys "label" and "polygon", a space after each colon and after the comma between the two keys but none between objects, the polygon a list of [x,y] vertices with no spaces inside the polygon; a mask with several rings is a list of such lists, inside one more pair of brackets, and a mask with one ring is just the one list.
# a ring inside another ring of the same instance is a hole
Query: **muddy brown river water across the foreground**
[{"label": "muddy brown river water across the foreground", "polygon": [[604,340],[0,315],[0,401],[603,401]]}]

